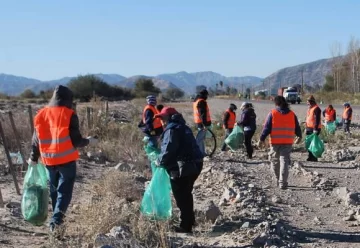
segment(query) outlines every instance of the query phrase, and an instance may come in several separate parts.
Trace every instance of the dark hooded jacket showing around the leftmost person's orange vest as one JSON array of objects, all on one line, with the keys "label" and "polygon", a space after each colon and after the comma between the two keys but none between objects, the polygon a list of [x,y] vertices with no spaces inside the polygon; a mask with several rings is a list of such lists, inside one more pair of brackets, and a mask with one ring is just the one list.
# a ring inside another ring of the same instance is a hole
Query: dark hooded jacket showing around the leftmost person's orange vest
[{"label": "dark hooded jacket showing around the leftmost person's orange vest", "polygon": [[[73,101],[73,94],[71,90],[68,89],[67,87],[59,85],[55,88],[54,94],[50,99],[48,106],[50,107],[64,106],[71,109],[72,101]],[[80,127],[79,127],[79,118],[75,113],[71,116],[69,131],[70,131],[71,142],[73,143],[73,146],[75,148],[84,147],[89,144],[89,140],[84,139],[81,136]],[[32,151],[30,154],[30,159],[32,161],[38,161],[40,157],[40,150],[39,150],[39,139],[36,130],[34,131],[33,134],[31,146],[32,146]]]}]

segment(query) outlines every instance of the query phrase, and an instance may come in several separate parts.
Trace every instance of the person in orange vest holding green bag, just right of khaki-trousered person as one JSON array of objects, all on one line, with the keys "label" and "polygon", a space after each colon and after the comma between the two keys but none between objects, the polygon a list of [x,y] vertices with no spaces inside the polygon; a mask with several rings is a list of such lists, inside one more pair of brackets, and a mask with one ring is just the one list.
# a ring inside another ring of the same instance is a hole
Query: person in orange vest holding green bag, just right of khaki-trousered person
[{"label": "person in orange vest holding green bag, just right of khaki-trousered person", "polygon": [[[316,104],[314,96],[307,99],[309,106],[306,115],[306,135],[316,134],[320,135],[321,132],[321,109]],[[307,161],[317,162],[318,159],[310,152]]]}]

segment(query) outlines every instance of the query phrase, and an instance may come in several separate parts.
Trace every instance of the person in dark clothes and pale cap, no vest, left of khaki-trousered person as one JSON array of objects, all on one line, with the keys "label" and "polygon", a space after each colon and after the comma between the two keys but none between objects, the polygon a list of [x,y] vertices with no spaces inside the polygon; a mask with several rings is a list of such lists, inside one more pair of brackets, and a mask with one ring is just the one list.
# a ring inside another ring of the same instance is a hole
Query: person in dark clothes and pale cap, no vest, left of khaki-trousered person
[{"label": "person in dark clothes and pale cap, no vest, left of khaki-trousered person", "polygon": [[254,148],[252,146],[252,137],[256,131],[256,114],[253,105],[249,102],[243,102],[240,107],[242,113],[240,121],[237,125],[241,126],[244,130],[244,143],[246,153],[249,159],[252,159]]}]

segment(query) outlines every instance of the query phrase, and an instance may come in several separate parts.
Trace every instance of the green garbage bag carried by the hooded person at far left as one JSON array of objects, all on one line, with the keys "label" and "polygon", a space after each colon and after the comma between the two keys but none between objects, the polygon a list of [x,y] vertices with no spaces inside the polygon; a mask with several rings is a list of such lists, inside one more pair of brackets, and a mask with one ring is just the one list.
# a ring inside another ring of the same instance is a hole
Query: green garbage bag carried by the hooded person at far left
[{"label": "green garbage bag carried by the hooded person at far left", "polygon": [[33,225],[41,226],[48,216],[49,191],[48,174],[45,166],[30,166],[25,174],[21,212],[24,219]]}]

